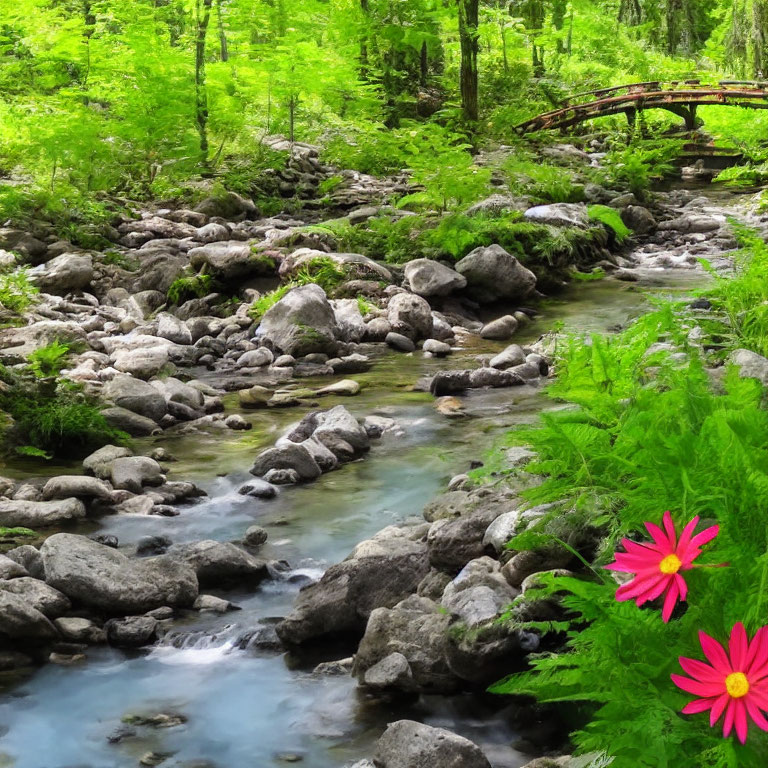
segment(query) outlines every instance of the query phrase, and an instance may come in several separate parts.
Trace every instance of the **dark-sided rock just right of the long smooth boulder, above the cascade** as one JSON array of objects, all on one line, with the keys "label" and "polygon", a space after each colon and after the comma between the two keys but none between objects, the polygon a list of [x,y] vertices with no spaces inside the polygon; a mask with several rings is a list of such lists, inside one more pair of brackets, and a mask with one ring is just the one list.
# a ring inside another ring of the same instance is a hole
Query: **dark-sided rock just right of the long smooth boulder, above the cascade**
[{"label": "dark-sided rock just right of the long smooth boulder, above the cascade", "polygon": [[200,586],[204,587],[258,584],[269,576],[266,561],[225,542],[176,544],[168,554],[189,565],[197,574]]}]

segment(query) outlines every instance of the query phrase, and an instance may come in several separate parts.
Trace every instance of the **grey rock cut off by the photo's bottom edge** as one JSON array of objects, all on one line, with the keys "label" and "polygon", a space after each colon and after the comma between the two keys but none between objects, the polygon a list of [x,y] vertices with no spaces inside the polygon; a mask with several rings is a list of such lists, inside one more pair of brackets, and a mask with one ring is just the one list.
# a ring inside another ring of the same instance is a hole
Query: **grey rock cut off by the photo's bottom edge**
[{"label": "grey rock cut off by the photo's bottom edge", "polygon": [[491,768],[469,739],[413,720],[387,726],[376,744],[373,763],[377,768]]}]

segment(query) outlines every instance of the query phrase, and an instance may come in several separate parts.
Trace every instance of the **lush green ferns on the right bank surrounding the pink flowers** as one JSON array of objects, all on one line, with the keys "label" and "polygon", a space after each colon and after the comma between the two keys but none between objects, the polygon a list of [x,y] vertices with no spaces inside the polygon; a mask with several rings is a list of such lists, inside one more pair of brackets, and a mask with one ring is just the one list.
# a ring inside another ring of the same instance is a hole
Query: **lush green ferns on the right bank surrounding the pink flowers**
[{"label": "lush green ferns on the right bank surrounding the pink flowers", "polygon": [[[766,251],[749,240],[740,273],[732,285],[716,285],[713,301],[730,311],[749,301],[758,274],[765,282]],[[699,630],[724,640],[743,621],[754,632],[766,623],[768,600],[764,390],[730,369],[722,390],[713,391],[701,352],[688,344],[690,323],[687,310],[665,303],[615,337],[567,339],[549,394],[571,407],[546,412],[539,425],[511,436],[533,448],[537,458],[527,470],[544,477],[525,492],[528,501],[557,502],[558,511],[510,546],[538,546],[568,518],[597,527],[603,539],[594,570],[541,576],[540,592],[526,593],[527,600],[561,601],[571,621],[566,650],[535,656],[530,671],[493,690],[576,703],[580,723],[571,738],[578,752],[606,752],[616,768],[757,768],[768,758],[768,738],[755,729],[741,746],[710,729],[705,716],[683,717],[690,696],[669,679],[679,671],[678,656],[701,657]],[[734,330],[733,343],[741,345],[741,326]],[[654,346],[660,342],[665,346]],[[686,361],[672,358],[666,345]],[[617,602],[615,581],[600,570],[622,537],[644,537],[644,522],[658,522],[664,509],[678,527],[695,515],[717,522],[720,533],[701,562],[729,563],[687,572],[688,602],[666,625],[654,605]]]}]

